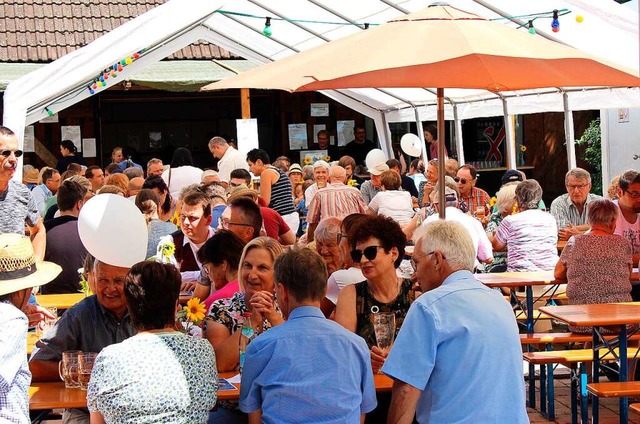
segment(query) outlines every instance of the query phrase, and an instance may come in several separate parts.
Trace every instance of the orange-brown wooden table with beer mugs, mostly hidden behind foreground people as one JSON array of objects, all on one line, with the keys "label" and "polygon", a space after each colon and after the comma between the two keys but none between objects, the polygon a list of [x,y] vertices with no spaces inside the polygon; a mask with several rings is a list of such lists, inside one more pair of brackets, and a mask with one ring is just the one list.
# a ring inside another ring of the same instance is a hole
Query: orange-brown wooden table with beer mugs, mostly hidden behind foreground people
[{"label": "orange-brown wooden table with beer mugs, mostly hidden behind foreground people", "polygon": [[[223,372],[220,378],[229,379],[236,372]],[[374,374],[376,391],[390,392],[393,380],[384,374]],[[233,383],[235,390],[218,392],[218,401],[237,401],[240,397],[240,384]],[[31,383],[29,387],[29,409],[32,411],[59,408],[86,408],[87,392],[80,389],[66,389],[62,381]]]}]

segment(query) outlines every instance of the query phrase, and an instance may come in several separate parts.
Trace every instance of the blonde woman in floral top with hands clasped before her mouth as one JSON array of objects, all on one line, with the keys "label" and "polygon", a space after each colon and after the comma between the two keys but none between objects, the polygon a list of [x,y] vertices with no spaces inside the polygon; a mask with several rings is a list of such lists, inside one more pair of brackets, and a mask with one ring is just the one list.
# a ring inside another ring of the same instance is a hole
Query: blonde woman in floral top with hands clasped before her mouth
[{"label": "blonde woman in floral top with hands clasped before her mouth", "polygon": [[258,237],[244,248],[240,258],[240,291],[211,305],[205,321],[205,335],[214,350],[221,372],[238,368],[240,318],[251,313],[251,325],[258,334],[281,324],[284,319],[275,298],[273,263],[282,246],[270,237]]}]

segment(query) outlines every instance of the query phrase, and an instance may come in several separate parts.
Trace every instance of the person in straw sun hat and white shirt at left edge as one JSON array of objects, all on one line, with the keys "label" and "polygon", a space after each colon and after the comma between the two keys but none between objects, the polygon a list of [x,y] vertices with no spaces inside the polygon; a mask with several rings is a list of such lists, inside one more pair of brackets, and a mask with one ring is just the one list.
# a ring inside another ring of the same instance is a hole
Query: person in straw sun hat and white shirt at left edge
[{"label": "person in straw sun hat and white shirt at left edge", "polygon": [[0,235],[0,422],[31,422],[27,363],[31,317],[24,311],[35,308],[27,304],[31,289],[47,284],[60,271],[51,262],[36,262],[28,238]]}]

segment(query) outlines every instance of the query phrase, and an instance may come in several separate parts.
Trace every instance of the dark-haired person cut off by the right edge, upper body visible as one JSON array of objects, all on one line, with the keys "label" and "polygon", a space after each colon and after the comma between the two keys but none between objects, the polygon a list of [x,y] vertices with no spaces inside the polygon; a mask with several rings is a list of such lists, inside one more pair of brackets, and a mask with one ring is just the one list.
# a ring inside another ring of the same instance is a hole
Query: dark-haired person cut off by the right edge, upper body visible
[{"label": "dark-haired person cut off by the right edge, upper body visible", "polygon": [[[640,258],[640,172],[629,170],[620,175],[617,188],[620,213],[614,234],[629,240],[633,246],[633,266],[638,266]],[[634,301],[640,300],[640,285],[631,290]]]}]

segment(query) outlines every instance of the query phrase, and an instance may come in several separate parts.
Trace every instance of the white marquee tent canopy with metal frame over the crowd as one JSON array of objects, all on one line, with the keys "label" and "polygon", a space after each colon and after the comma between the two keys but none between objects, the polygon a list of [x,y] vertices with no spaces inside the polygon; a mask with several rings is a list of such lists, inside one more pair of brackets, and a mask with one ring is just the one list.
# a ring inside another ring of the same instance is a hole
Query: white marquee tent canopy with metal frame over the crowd
[{"label": "white marquee tent canopy with metal frame over the crowd", "polygon": [[[169,0],[93,43],[10,83],[4,94],[3,125],[12,128],[22,143],[26,125],[108,89],[198,40],[209,41],[262,64],[362,31],[365,23],[384,23],[415,12],[429,3],[424,0]],[[534,20],[536,36],[569,44],[633,68],[637,73],[638,17],[613,1],[450,0],[448,3],[515,27],[526,24],[519,18],[523,15],[568,9],[571,13],[560,17],[558,33],[551,31],[551,19]],[[577,22],[578,15],[584,18],[582,23]],[[272,18],[271,37],[262,34],[267,16]],[[104,69],[136,52],[142,52],[140,58],[118,71],[118,77],[105,80],[104,87],[89,89]],[[353,52],[353,60],[366,58],[366,51]],[[389,122],[436,118],[436,95],[428,88],[332,90],[323,94],[372,118],[387,154],[391,148]],[[570,164],[575,163],[570,111],[640,107],[638,88],[557,88],[499,94],[451,89],[446,90],[445,95],[445,117],[456,121],[460,154],[459,131],[463,119],[565,111]],[[513,145],[507,146],[507,154],[513,166]]]}]

